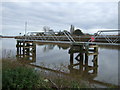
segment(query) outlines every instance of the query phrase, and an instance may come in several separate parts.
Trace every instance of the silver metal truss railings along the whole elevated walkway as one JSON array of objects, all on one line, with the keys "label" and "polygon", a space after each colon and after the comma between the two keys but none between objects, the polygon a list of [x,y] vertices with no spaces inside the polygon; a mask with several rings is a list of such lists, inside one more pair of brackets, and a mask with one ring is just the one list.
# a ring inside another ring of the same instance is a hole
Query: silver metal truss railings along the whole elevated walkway
[{"label": "silver metal truss railings along the whole elevated walkway", "polygon": [[[117,32],[118,35],[105,35],[107,32]],[[99,43],[99,44],[115,44],[117,45],[120,40],[120,35],[119,35],[120,30],[103,30],[103,31],[98,31],[93,37],[95,39],[94,42],[92,42],[92,39],[90,39],[90,36],[71,36],[69,32],[64,31],[61,36],[56,35],[55,33],[49,33],[49,34],[44,34],[40,32],[28,32],[27,35],[22,36],[20,39],[23,41],[40,41],[40,42],[55,42],[55,43]],[[77,38],[81,39],[82,41],[77,41]],[[86,39],[85,41],[83,41]]]}]

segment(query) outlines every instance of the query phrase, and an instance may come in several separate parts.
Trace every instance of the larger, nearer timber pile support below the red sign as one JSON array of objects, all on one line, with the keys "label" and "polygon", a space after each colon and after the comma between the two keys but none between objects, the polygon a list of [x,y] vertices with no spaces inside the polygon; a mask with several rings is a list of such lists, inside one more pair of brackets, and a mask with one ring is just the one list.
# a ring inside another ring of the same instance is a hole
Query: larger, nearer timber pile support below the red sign
[{"label": "larger, nearer timber pile support below the red sign", "polygon": [[[74,53],[78,53],[78,55],[74,59]],[[89,44],[81,44],[81,45],[72,45],[70,50],[70,71],[76,71],[77,69],[73,68],[79,65],[78,72],[85,75],[89,75],[89,70],[93,70],[93,74],[97,73],[97,63],[98,63],[98,46],[97,45],[89,45]],[[88,60],[89,56],[93,56],[93,66],[89,66]],[[74,60],[77,60],[78,63],[74,64]]]}]

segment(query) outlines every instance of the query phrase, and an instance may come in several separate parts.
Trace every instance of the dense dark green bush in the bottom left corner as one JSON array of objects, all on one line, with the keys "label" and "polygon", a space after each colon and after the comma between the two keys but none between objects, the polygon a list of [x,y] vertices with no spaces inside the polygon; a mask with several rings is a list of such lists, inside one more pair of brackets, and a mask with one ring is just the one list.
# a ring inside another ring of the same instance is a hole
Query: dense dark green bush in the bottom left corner
[{"label": "dense dark green bush in the bottom left corner", "polygon": [[[6,65],[8,65],[8,62],[6,62]],[[3,89],[34,88],[37,85],[36,82],[38,79],[39,79],[38,74],[32,68],[28,68],[22,65],[12,67],[11,63],[9,63],[9,66],[5,66],[5,67],[3,66],[3,70],[2,70]]]}]

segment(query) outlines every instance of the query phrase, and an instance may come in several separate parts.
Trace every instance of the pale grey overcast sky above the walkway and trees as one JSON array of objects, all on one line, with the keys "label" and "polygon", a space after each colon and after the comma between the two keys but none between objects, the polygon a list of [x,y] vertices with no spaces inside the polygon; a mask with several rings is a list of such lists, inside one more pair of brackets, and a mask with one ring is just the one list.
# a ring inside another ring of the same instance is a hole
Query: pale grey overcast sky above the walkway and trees
[{"label": "pale grey overcast sky above the walkway and trees", "polygon": [[2,34],[24,34],[27,31],[42,31],[49,26],[54,31],[68,30],[70,25],[84,33],[99,29],[118,28],[117,2],[3,2]]}]

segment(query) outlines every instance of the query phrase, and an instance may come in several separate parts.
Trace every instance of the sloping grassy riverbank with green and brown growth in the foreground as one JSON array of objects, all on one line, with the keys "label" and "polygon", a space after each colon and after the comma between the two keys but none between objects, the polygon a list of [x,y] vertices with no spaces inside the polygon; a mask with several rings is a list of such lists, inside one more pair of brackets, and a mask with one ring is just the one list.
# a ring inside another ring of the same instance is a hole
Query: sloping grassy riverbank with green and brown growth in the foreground
[{"label": "sloping grassy riverbank with green and brown growth in the foreground", "polygon": [[87,88],[88,86],[70,77],[49,76],[17,61],[3,60],[2,88],[8,89],[60,89]]}]

